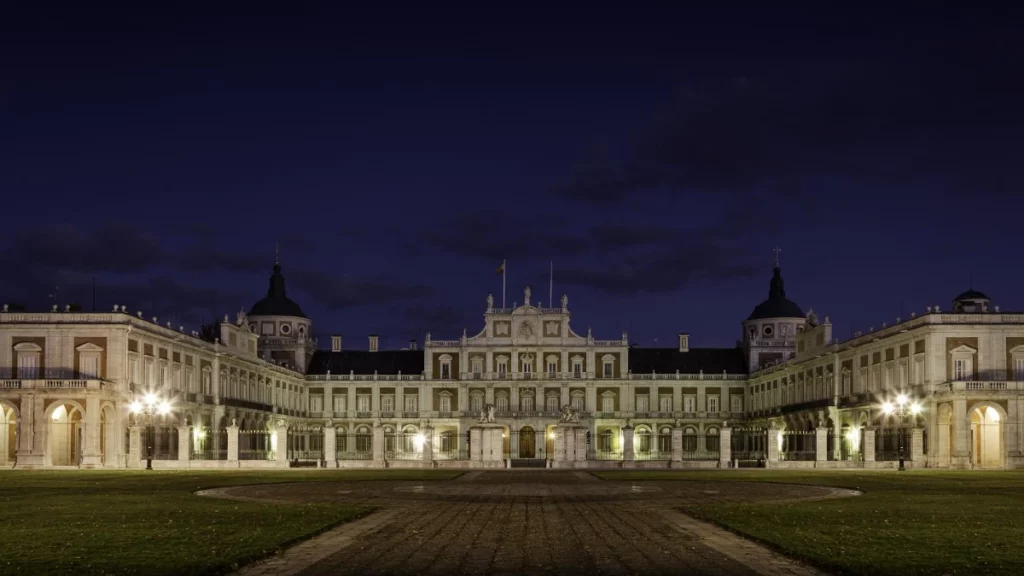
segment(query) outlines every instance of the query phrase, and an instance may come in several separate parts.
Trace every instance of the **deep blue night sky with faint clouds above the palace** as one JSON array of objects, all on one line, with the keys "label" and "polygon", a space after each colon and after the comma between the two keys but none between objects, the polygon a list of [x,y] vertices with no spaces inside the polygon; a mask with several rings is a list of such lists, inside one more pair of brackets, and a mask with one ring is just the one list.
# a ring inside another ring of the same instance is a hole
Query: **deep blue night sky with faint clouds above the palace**
[{"label": "deep blue night sky with faint clouds above the palace", "polygon": [[731,345],[777,245],[844,338],[1024,308],[1017,14],[213,4],[5,8],[0,300],[196,329],[280,242],[324,346],[472,335],[503,259],[579,333]]}]

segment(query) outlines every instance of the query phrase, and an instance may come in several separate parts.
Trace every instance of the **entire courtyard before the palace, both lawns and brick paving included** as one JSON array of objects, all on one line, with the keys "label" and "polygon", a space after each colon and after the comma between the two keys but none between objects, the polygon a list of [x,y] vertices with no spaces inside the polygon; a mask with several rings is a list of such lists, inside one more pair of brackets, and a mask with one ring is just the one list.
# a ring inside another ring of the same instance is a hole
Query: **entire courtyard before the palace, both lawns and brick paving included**
[{"label": "entire courtyard before the palace, both lawns and brick paving included", "polygon": [[1020,472],[4,471],[0,573],[1009,574],[1022,501]]}]

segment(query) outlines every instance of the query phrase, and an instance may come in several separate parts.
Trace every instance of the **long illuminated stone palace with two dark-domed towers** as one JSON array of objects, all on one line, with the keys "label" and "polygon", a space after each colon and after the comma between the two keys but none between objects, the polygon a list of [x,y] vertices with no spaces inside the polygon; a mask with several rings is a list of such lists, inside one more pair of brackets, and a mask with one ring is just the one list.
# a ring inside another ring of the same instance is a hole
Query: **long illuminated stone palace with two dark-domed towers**
[{"label": "long illuminated stone palace with two dark-domed towers", "polygon": [[740,324],[734,347],[632,346],[526,288],[473,334],[322,348],[280,263],[202,332],[5,305],[0,466],[1024,466],[1024,314],[970,290],[840,341],[776,264]]}]

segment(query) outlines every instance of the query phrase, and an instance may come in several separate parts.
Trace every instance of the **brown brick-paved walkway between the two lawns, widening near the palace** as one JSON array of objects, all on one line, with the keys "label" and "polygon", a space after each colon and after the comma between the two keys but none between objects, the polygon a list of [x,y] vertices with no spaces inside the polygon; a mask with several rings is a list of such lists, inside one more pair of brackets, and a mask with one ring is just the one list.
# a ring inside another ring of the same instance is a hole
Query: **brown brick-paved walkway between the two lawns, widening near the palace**
[{"label": "brown brick-paved walkway between the two lawns, widening near the palace", "polygon": [[819,572],[696,521],[694,503],[836,498],[831,488],[610,482],[581,471],[473,471],[456,481],[263,485],[207,495],[383,509],[244,576],[286,574],[797,574]]}]

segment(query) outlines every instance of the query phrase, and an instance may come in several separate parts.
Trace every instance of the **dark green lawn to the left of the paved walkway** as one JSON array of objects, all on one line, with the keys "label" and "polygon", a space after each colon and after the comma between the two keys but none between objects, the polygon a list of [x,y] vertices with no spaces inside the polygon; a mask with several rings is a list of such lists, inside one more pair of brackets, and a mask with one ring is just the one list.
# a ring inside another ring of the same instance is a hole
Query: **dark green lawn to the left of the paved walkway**
[{"label": "dark green lawn to the left of the paved walkway", "polygon": [[445,480],[447,470],[2,471],[0,574],[216,574],[372,511],[236,502],[246,484]]}]

